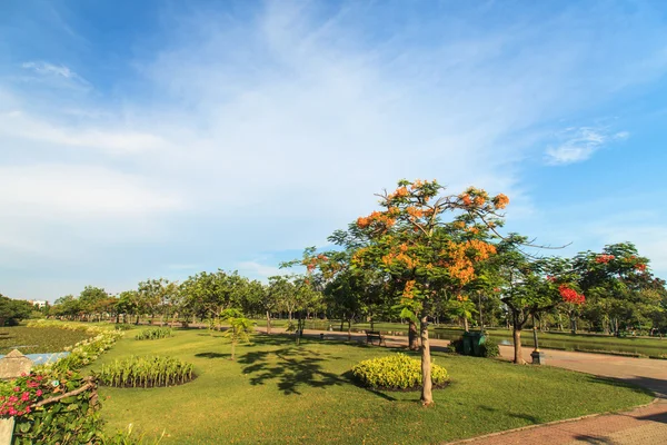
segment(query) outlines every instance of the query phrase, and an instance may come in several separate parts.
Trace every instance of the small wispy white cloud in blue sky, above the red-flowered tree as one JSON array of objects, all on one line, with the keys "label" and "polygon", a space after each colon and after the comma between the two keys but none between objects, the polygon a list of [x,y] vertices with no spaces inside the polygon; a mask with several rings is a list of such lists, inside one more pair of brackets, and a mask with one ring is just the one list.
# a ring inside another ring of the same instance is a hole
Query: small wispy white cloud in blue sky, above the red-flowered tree
[{"label": "small wispy white cloud in blue sky, above the red-flowered tree", "polygon": [[547,148],[546,161],[552,166],[581,162],[589,159],[606,144],[628,137],[628,131],[610,134],[606,128],[568,128],[559,135],[561,142],[558,146]]}]

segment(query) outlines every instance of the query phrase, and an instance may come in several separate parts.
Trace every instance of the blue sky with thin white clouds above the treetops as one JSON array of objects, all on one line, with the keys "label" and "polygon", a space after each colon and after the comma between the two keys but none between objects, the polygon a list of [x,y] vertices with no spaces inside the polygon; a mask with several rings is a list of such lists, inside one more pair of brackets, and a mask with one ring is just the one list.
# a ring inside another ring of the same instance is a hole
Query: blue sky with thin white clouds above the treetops
[{"label": "blue sky with thin white clouds above the treetops", "polygon": [[277,273],[400,178],[667,276],[663,1],[0,3],[0,293]]}]

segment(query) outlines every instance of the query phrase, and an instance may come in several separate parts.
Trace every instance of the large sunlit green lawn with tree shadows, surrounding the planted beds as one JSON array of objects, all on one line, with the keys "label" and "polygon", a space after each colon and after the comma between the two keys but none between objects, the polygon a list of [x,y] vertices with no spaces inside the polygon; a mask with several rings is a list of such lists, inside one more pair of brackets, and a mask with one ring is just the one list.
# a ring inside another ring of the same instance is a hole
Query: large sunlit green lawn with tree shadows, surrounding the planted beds
[{"label": "large sunlit green lawn with tree shadows, surrounding the planted beds", "polygon": [[550,367],[516,366],[435,353],[451,384],[421,407],[418,392],[372,392],[350,382],[359,360],[389,348],[319,339],[255,337],[237,347],[221,334],[178,330],[172,338],[137,342],[128,334],[92,369],[129,355],[159,354],[196,365],[196,380],[151,389],[100,388],[110,432],[165,444],[425,444],[536,423],[629,408],[651,400],[645,390]]}]

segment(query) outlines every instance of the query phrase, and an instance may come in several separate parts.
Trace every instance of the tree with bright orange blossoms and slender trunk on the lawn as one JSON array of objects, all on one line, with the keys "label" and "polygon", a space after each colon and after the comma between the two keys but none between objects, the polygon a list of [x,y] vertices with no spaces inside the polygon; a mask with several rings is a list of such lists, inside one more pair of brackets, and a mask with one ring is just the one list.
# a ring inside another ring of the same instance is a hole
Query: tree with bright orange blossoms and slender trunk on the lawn
[{"label": "tree with bright orange blossoms and slender trunk on the lawn", "polygon": [[501,224],[497,211],[509,202],[474,187],[460,195],[444,190],[435,180],[401,180],[394,192],[378,195],[381,209],[356,224],[368,244],[351,257],[352,268],[385,274],[400,289],[404,314],[420,323],[424,405],[434,402],[428,342],[434,304],[458,295],[475,279],[476,265],[496,253],[488,239]]}]

